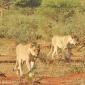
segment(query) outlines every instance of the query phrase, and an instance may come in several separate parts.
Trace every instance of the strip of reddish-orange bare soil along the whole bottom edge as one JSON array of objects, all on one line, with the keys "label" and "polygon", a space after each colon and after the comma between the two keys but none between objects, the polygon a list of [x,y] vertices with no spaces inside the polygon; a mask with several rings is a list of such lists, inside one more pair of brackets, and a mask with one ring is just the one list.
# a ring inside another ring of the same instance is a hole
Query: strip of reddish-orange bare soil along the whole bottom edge
[{"label": "strip of reddish-orange bare soil along the whole bottom edge", "polygon": [[31,82],[16,76],[0,77],[0,85],[85,85],[85,73],[72,73],[64,77],[41,77]]}]

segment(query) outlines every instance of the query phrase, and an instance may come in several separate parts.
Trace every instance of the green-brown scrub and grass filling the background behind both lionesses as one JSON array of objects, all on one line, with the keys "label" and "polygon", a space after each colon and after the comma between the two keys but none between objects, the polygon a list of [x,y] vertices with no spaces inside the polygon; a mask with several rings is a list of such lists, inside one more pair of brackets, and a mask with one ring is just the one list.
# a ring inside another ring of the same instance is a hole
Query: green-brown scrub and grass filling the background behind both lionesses
[{"label": "green-brown scrub and grass filling the background behind both lionesses", "polygon": [[[0,37],[49,40],[53,35],[85,36],[84,0],[0,0]],[[8,3],[8,4],[7,4]],[[7,8],[7,9],[6,9]]]}]

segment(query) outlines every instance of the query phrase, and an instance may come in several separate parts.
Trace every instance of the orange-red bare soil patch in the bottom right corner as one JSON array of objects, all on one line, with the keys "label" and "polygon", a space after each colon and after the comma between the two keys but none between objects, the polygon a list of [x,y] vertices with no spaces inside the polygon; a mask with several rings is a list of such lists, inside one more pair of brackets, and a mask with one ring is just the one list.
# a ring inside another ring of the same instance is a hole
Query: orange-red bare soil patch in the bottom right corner
[{"label": "orange-red bare soil patch in the bottom right corner", "polygon": [[[43,85],[85,85],[85,81],[75,82],[74,79],[85,80],[85,73],[72,73],[64,77],[44,77],[40,80]],[[83,84],[80,84],[83,83]]]}]

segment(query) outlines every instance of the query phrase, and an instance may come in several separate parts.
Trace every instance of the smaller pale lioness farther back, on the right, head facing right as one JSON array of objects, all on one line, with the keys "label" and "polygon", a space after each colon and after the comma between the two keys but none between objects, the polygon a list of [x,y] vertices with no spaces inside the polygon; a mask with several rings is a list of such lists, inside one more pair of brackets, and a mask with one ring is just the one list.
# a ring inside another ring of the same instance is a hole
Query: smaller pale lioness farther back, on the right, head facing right
[{"label": "smaller pale lioness farther back, on the right, head facing right", "polygon": [[65,50],[67,48],[68,43],[75,45],[76,40],[71,37],[71,35],[67,36],[54,36],[52,38],[52,48],[49,54],[52,52],[52,59],[54,59],[54,55],[56,54],[58,56],[58,48]]}]

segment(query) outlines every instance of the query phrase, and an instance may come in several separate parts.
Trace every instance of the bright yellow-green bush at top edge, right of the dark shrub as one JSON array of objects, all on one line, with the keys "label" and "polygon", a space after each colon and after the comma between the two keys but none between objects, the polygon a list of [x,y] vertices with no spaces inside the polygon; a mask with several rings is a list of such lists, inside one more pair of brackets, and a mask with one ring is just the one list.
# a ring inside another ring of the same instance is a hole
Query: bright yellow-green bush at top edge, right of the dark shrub
[{"label": "bright yellow-green bush at top edge, right of the dark shrub", "polygon": [[43,0],[42,5],[51,7],[71,8],[77,7],[80,0]]}]

